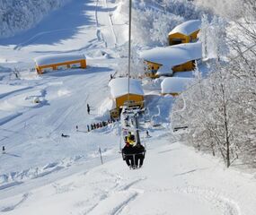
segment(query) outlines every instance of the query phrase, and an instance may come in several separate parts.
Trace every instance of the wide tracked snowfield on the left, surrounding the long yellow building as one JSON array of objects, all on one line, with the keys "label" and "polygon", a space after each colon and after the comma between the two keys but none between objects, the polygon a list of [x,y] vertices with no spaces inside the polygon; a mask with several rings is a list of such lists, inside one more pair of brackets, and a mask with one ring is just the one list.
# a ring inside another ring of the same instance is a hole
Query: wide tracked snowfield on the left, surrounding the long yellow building
[{"label": "wide tracked snowfield on the left, surrounding the long yellow building", "polygon": [[[113,53],[108,47],[114,48],[114,36],[104,41],[97,39],[98,30],[111,33],[107,6],[106,1],[72,1],[37,27],[1,40],[1,62],[4,67],[21,70],[21,80],[9,78],[8,73],[1,79],[0,143],[7,153],[0,156],[0,186],[57,172],[77,157],[92,159],[99,146],[109,151],[119,140],[112,125],[102,132],[85,133],[87,125],[109,117],[100,112],[102,102],[110,95],[112,65],[117,63],[104,55]],[[42,77],[29,72],[33,57],[62,52],[83,52],[88,68]],[[40,103],[35,103],[35,99]],[[87,104],[91,115],[86,112]],[[76,125],[79,132],[75,131]],[[70,138],[61,138],[61,133]]]}]

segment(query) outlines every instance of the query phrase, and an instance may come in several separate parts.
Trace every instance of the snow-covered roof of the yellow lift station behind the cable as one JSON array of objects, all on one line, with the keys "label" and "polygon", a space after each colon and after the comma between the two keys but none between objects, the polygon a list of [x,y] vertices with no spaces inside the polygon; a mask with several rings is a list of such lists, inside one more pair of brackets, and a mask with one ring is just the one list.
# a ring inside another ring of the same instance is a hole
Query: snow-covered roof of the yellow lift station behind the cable
[{"label": "snow-covered roof of the yellow lift station behind the cable", "polygon": [[[128,78],[112,79],[109,83],[112,98],[116,99],[120,96],[128,94]],[[136,95],[144,95],[141,82],[136,79],[129,80],[129,93]]]}]

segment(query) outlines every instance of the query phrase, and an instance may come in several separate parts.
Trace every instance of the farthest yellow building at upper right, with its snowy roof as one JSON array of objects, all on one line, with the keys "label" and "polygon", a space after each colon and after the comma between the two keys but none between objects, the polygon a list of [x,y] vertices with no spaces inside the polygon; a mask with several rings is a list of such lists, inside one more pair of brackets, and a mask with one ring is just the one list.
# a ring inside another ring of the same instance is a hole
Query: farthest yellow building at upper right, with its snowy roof
[{"label": "farthest yellow building at upper right, with its snowy roof", "polygon": [[199,20],[183,22],[169,33],[169,45],[172,46],[197,41],[200,28],[201,22]]}]

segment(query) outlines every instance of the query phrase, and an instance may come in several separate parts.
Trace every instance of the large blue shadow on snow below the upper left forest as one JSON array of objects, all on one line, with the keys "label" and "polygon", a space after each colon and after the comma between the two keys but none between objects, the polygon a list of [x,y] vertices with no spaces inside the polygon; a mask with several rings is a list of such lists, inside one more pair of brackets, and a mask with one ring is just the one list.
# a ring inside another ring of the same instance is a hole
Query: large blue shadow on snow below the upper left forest
[{"label": "large blue shadow on snow below the upper left forest", "polygon": [[[17,45],[18,47],[31,44],[51,45],[64,39],[75,37],[81,27],[96,25],[94,17],[86,12],[101,11],[101,7],[93,5],[93,0],[75,0],[66,4],[63,8],[49,13],[49,15],[30,30],[8,39],[0,39],[0,45]],[[54,20],[54,22],[52,22]]]}]

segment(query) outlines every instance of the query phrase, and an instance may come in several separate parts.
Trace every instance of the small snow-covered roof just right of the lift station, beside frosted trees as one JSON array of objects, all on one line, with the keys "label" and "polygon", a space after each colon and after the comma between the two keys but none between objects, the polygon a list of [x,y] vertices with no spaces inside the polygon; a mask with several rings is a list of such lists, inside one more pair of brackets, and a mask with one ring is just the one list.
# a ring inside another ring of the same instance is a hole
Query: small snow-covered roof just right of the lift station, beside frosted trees
[{"label": "small snow-covered roof just right of the lift station, beside frosted trees", "polygon": [[170,77],[161,82],[162,93],[179,93],[186,90],[186,87],[192,81],[192,78]]}]

